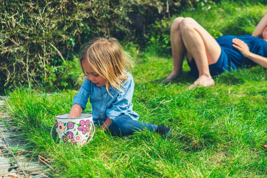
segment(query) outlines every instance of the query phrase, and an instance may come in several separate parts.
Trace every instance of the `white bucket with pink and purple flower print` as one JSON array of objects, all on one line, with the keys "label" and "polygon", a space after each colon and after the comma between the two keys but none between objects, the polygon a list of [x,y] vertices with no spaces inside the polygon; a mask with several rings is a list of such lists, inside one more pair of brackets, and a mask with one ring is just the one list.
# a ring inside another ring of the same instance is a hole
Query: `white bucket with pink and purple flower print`
[{"label": "white bucket with pink and purple flower print", "polygon": [[56,116],[50,134],[52,136],[52,130],[55,127],[60,142],[83,146],[92,139],[94,134],[92,115],[82,113],[79,118],[68,118],[68,116],[69,114]]}]

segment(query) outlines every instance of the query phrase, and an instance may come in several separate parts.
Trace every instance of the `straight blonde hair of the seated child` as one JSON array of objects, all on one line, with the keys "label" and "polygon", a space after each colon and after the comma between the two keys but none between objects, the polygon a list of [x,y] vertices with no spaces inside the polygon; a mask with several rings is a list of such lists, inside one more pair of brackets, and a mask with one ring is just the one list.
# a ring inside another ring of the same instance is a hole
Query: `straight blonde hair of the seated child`
[{"label": "straight blonde hair of the seated child", "polygon": [[133,66],[133,61],[115,38],[94,38],[83,48],[80,65],[83,72],[83,61],[87,60],[95,72],[106,80],[108,85],[122,91],[123,82],[127,80],[127,71]]}]

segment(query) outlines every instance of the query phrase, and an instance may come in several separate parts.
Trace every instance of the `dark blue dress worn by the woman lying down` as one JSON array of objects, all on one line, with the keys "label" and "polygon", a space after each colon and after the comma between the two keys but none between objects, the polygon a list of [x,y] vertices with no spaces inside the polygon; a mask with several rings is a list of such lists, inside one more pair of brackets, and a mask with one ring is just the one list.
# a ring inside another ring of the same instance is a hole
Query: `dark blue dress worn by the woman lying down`
[{"label": "dark blue dress worn by the woman lying down", "polygon": [[[238,49],[232,46],[232,39],[234,38],[245,42],[249,46],[249,50],[252,53],[267,57],[267,42],[265,40],[250,35],[242,35],[239,37],[224,35],[216,39],[222,48],[222,52],[218,61],[215,64],[209,65],[211,76],[216,76],[225,71],[237,70],[241,67],[257,65],[252,60],[245,58]],[[195,78],[198,78],[199,74],[194,58],[192,58],[191,62],[189,62],[187,59],[187,63],[191,69],[189,74]]]}]

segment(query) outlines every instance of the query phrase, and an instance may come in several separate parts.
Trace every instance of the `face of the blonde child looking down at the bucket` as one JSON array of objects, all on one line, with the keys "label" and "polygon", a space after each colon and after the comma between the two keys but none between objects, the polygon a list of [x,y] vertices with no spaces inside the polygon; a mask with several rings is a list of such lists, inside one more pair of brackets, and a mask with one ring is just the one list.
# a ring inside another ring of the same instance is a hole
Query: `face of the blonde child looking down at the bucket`
[{"label": "face of the blonde child looking down at the bucket", "polygon": [[83,61],[83,68],[89,81],[94,83],[97,87],[103,87],[106,85],[106,80],[93,70],[87,60]]}]

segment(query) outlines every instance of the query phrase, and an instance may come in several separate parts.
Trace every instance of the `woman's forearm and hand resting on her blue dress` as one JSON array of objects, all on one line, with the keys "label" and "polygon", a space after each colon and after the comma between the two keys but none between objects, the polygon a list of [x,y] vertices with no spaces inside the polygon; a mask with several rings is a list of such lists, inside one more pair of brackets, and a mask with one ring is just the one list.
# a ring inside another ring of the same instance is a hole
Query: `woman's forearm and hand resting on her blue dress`
[{"label": "woman's forearm and hand resting on her blue dress", "polygon": [[249,46],[242,40],[233,39],[232,42],[233,46],[237,48],[244,57],[249,58],[250,60],[256,62],[257,64],[267,69],[267,57],[263,57],[258,54],[250,52]]}]

